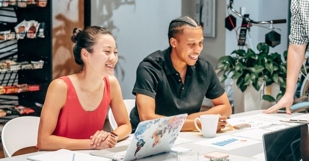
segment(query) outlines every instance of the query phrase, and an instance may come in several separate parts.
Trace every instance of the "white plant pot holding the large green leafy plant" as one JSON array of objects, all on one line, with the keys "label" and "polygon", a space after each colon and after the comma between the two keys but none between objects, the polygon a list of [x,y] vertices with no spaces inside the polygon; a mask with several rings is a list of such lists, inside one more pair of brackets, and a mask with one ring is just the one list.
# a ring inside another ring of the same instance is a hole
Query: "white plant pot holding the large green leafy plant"
[{"label": "white plant pot holding the large green leafy plant", "polygon": [[249,85],[247,89],[242,92],[236,85],[237,80],[233,81],[234,90],[234,113],[247,112],[253,110],[267,109],[273,106],[273,103],[263,100],[263,92],[269,94],[276,99],[277,94],[280,92],[280,86],[277,83],[273,83],[263,89],[264,84],[261,86],[259,91]]}]

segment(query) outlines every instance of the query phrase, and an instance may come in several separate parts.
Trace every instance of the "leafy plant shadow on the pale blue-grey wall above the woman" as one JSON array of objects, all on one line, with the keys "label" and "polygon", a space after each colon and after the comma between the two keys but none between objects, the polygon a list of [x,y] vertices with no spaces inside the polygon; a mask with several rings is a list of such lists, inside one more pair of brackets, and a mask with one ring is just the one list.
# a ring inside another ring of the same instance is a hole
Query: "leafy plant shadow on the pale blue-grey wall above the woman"
[{"label": "leafy plant shadow on the pale blue-grey wall above the woman", "polygon": [[[136,7],[135,0],[93,0],[91,3],[95,3],[95,5],[91,5],[91,7],[96,7],[94,10],[99,11],[97,14],[91,14],[91,21],[100,19],[102,22],[102,24],[100,24],[101,27],[108,28],[110,31],[116,30],[118,32],[120,29],[114,25],[112,20],[113,10],[118,9],[121,5],[134,5],[134,7]],[[115,39],[117,39],[116,36]],[[125,57],[118,56],[118,63],[115,66],[114,71],[116,77],[119,78],[121,76],[121,81],[123,81],[125,77],[125,70],[121,66],[120,60],[125,61]]]}]

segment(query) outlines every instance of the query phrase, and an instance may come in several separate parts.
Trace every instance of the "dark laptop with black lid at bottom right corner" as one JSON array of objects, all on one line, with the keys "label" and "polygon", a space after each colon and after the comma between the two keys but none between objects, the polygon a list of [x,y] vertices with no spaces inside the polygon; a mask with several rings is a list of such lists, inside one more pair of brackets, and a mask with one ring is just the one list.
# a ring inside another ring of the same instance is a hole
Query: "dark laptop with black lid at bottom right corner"
[{"label": "dark laptop with black lid at bottom right corner", "polygon": [[309,161],[309,132],[300,124],[263,135],[267,161]]}]

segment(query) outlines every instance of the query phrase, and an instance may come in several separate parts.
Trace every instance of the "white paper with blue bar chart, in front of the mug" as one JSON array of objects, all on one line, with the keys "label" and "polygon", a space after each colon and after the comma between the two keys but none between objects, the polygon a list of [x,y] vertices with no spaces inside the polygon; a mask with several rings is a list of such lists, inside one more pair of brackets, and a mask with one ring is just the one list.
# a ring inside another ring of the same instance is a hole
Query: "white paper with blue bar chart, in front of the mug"
[{"label": "white paper with blue bar chart, in front of the mug", "polygon": [[250,138],[243,138],[238,136],[232,135],[224,135],[215,137],[212,139],[207,139],[199,142],[195,142],[193,144],[201,145],[201,146],[208,146],[222,150],[232,150],[252,144],[260,143],[259,140],[254,140]]}]

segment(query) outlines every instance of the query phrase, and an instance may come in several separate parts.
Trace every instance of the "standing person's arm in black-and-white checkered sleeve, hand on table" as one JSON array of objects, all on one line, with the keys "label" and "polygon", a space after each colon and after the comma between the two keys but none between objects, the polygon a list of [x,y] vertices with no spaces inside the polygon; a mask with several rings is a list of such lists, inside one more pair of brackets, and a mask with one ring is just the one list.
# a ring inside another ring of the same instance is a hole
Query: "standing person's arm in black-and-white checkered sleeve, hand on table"
[{"label": "standing person's arm in black-and-white checkered sleeve, hand on table", "polygon": [[286,93],[277,104],[264,110],[265,113],[276,112],[286,108],[286,114],[291,114],[290,108],[294,101],[294,90],[298,75],[303,64],[306,45],[309,37],[309,2],[307,0],[292,0],[291,2],[291,33],[288,49]]}]

